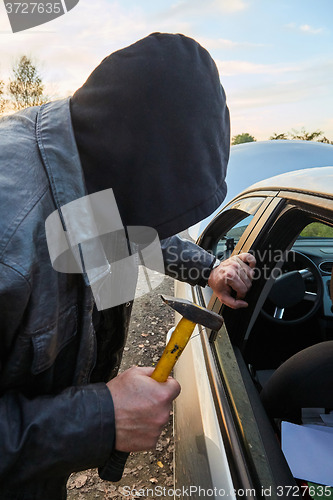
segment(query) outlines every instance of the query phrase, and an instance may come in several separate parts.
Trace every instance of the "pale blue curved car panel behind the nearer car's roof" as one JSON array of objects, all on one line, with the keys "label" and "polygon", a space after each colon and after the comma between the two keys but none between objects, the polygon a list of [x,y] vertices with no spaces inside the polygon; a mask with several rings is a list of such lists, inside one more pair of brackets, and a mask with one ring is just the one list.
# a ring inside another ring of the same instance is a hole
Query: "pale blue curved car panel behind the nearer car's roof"
[{"label": "pale blue curved car panel behind the nearer car's roof", "polygon": [[220,207],[189,229],[196,240],[215,215],[237,194],[269,177],[305,168],[333,165],[333,145],[313,141],[272,140],[232,146],[227,170],[228,192]]}]

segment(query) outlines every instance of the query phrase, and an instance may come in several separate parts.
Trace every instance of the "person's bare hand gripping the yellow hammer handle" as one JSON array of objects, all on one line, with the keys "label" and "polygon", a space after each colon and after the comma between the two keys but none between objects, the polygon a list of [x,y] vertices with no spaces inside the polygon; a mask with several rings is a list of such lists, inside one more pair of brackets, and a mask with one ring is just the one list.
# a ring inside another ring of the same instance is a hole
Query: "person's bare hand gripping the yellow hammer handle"
[{"label": "person's bare hand gripping the yellow hammer handle", "polygon": [[115,411],[115,448],[119,451],[155,448],[169,420],[180,385],[171,377],[166,382],[156,382],[150,378],[153,371],[133,366],[107,383]]}]

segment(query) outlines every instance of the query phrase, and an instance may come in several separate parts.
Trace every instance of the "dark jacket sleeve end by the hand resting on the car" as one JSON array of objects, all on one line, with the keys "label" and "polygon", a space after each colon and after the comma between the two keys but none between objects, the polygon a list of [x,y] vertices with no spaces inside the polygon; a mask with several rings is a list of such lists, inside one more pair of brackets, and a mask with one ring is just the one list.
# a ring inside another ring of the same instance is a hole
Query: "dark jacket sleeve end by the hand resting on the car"
[{"label": "dark jacket sleeve end by the hand resting on the car", "polygon": [[165,274],[190,285],[206,286],[216,257],[178,235],[161,241]]}]

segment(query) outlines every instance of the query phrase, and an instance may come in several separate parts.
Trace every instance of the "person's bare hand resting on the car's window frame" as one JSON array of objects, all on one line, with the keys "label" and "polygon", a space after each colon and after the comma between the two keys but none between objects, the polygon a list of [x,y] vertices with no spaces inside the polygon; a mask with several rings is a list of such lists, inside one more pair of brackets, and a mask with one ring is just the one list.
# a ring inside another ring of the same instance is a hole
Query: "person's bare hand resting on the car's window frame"
[{"label": "person's bare hand resting on the car's window frame", "polygon": [[[247,307],[242,300],[251,288],[256,259],[249,253],[241,253],[221,262],[209,275],[208,285],[218,299],[232,309]],[[232,296],[232,290],[236,297]]]}]

